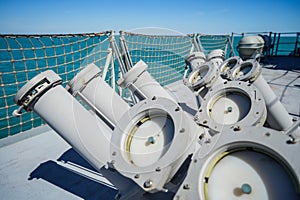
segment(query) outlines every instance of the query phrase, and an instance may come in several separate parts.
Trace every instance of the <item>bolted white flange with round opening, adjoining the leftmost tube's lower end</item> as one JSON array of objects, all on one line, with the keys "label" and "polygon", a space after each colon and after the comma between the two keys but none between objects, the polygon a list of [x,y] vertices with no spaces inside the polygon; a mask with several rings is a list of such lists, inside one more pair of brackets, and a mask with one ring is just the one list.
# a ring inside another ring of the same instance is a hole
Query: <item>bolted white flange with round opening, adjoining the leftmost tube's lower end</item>
[{"label": "bolted white flange with round opening, adjoining the leftmost tube's lower end", "polygon": [[115,128],[111,163],[145,191],[163,190],[195,150],[202,131],[172,100],[145,99],[125,113]]}]

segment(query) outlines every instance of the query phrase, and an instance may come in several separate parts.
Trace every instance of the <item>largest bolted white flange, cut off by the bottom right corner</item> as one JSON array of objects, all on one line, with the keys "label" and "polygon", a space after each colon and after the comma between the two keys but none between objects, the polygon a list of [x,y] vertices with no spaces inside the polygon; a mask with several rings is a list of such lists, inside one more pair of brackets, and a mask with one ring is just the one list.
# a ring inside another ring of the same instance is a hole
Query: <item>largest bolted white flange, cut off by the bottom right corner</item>
[{"label": "largest bolted white flange, cut off by the bottom right corner", "polygon": [[193,155],[174,200],[298,199],[300,144],[264,127],[227,130]]}]

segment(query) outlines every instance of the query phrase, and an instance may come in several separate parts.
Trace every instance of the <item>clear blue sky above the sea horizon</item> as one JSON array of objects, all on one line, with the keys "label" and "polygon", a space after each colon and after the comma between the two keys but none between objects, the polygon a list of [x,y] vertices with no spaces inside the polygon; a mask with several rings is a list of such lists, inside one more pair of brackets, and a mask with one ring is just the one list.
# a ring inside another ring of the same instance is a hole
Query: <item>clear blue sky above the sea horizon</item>
[{"label": "clear blue sky above the sea horizon", "polygon": [[0,33],[300,31],[300,0],[0,0]]}]

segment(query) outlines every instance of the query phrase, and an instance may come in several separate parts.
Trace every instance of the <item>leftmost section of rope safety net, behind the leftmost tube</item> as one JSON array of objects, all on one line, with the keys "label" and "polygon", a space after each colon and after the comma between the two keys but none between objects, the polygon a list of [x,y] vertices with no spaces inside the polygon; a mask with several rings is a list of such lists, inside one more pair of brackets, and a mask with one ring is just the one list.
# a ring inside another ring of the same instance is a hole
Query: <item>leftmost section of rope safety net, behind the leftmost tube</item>
[{"label": "leftmost section of rope safety net, behind the leftmost tube", "polygon": [[[83,66],[104,66],[109,32],[67,35],[0,35],[0,138],[40,126],[34,112],[14,117],[18,108],[13,98],[31,78],[53,70],[63,85]],[[110,83],[111,73],[106,81]]]}]

